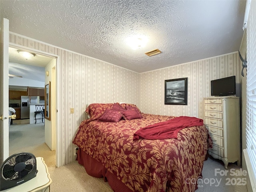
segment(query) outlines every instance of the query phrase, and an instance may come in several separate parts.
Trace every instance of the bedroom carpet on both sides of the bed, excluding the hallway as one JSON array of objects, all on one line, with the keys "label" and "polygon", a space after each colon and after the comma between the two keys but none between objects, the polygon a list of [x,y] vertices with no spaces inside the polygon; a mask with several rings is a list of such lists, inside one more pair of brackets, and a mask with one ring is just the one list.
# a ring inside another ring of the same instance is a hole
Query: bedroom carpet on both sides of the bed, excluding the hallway
[{"label": "bedroom carpet on both sides of the bed, excluding the hallway", "polygon": [[[236,166],[236,164],[228,165],[229,172],[226,176],[221,176],[217,172],[215,176],[215,169],[219,169],[220,172],[225,171],[224,164],[214,158],[208,158],[204,162],[202,171],[203,179],[196,192],[247,192],[245,185],[238,184],[239,178],[245,178],[244,176],[230,176],[230,169],[240,170],[240,167]],[[51,192],[113,191],[108,185],[108,182],[104,182],[103,178],[89,176],[84,167],[79,165],[77,161],[60,168],[50,167],[48,170],[52,178]],[[227,178],[230,178],[230,183],[228,183]]]}]

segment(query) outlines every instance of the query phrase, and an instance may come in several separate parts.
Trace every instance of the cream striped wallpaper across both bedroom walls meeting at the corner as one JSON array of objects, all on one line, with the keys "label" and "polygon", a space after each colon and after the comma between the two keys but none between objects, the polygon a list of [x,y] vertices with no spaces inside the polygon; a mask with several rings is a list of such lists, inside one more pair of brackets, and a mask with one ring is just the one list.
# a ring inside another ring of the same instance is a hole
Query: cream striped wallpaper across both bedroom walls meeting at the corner
[{"label": "cream striped wallpaper across both bedroom walls meeting at the corner", "polygon": [[[72,140],[88,103],[127,102],[144,113],[203,118],[202,98],[210,96],[210,80],[236,75],[240,82],[237,52],[138,74],[12,32],[10,43],[58,55],[58,166],[74,161]],[[188,105],[164,105],[164,80],[184,77],[188,77]]]}]

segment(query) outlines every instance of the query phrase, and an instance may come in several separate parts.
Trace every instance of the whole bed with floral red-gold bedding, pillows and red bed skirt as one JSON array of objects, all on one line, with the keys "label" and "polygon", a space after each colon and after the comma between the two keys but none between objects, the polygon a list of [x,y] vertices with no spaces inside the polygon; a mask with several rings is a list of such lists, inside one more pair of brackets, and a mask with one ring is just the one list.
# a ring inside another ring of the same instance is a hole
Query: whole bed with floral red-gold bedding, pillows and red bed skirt
[{"label": "whole bed with floral red-gold bedding, pillows and red bed skirt", "polygon": [[[164,138],[160,126],[178,117],[144,114],[134,104],[119,103],[90,104],[86,113],[90,118],[81,122],[73,143],[89,175],[104,177],[115,192],[196,190],[194,181],[212,146],[204,124],[174,128],[176,135]],[[156,132],[143,138],[149,127]]]}]

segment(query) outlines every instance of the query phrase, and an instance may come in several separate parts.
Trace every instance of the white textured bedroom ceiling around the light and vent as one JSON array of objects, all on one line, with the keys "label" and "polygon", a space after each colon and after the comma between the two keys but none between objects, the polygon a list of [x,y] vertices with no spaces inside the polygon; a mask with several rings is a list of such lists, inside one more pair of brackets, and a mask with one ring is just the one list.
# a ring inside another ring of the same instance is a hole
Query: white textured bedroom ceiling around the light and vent
[{"label": "white textured bedroom ceiling around the light and vent", "polygon": [[[10,31],[146,72],[238,51],[245,0],[1,0]],[[146,36],[133,50],[131,36]],[[161,54],[144,54],[158,48]]]}]

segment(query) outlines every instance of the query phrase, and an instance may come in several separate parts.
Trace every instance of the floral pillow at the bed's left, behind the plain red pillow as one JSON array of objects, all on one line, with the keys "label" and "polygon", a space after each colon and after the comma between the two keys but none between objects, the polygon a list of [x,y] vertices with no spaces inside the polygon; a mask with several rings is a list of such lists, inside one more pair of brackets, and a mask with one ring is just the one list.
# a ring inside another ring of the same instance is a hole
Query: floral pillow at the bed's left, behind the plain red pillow
[{"label": "floral pillow at the bed's left, behind the plain red pillow", "polygon": [[106,109],[111,109],[112,103],[92,103],[90,104],[85,112],[90,115],[91,120],[100,118]]}]

